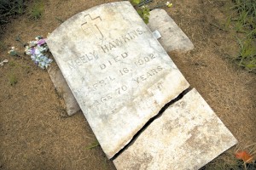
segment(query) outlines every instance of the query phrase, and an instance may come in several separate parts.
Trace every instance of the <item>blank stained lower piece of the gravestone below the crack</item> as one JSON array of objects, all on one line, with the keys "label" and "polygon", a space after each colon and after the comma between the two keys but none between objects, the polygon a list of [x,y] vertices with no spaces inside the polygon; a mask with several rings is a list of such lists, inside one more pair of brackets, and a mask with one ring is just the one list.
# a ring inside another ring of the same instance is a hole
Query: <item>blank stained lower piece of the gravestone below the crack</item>
[{"label": "blank stained lower piece of the gravestone below the crack", "polygon": [[113,163],[118,170],[197,170],[236,142],[194,88],[170,105]]}]

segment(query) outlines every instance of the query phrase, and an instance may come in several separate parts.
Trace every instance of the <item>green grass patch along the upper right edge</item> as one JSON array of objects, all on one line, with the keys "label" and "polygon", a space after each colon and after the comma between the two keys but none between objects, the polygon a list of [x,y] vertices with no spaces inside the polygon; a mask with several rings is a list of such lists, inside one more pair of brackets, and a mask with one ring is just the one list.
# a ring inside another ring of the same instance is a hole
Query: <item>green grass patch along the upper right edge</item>
[{"label": "green grass patch along the upper right edge", "polygon": [[[255,0],[232,0],[235,11],[227,25],[237,32],[239,53],[234,57],[238,65],[247,71],[256,72],[256,3]],[[239,35],[241,34],[241,35]]]}]

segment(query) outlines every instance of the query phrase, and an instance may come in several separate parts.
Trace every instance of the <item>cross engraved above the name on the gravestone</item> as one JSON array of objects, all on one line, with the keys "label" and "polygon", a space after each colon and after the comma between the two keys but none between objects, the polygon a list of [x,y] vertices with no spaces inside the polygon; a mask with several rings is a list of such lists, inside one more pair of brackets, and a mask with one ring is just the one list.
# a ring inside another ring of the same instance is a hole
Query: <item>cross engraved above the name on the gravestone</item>
[{"label": "cross engraved above the name on the gravestone", "polygon": [[91,18],[90,14],[84,15],[85,22],[81,25],[82,29],[84,31],[90,31],[98,40],[103,39],[102,31],[100,31],[97,24],[102,21],[102,18],[100,16],[97,16],[96,18]]}]

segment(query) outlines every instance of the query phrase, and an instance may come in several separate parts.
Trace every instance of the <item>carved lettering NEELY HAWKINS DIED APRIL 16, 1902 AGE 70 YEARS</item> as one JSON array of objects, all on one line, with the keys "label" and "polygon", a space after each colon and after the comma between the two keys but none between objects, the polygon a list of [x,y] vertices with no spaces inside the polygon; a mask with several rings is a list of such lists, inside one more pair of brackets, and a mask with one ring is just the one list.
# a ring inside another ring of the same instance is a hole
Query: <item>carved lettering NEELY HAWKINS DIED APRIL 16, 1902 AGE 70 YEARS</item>
[{"label": "carved lettering NEELY HAWKINS DIED APRIL 16, 1902 AGE 70 YEARS", "polygon": [[[147,54],[147,52],[135,54],[129,51],[120,54],[113,53],[115,55],[108,54],[113,49],[122,48],[125,44],[132,42],[144,32],[141,28],[129,31],[125,35],[103,43],[97,50],[94,49],[88,54],[67,61],[71,70],[85,65],[91,69],[90,65],[94,65],[93,68],[98,74],[106,75],[105,77],[95,75],[93,80],[90,78],[90,81],[86,83],[87,94],[83,94],[79,89],[75,92],[76,95],[79,95],[80,100],[83,100],[84,105],[99,109],[99,107],[112,104],[113,99],[129,99],[127,96],[131,95],[141,83],[147,83],[151,78],[160,76],[161,72],[165,70],[163,66],[154,64],[154,60],[159,57],[158,54]],[[109,75],[108,72],[110,72]],[[86,77],[83,78],[86,80]],[[94,100],[86,102],[84,96],[91,96]],[[112,105],[112,107],[113,109],[108,113],[97,114],[113,114],[120,105]]]}]

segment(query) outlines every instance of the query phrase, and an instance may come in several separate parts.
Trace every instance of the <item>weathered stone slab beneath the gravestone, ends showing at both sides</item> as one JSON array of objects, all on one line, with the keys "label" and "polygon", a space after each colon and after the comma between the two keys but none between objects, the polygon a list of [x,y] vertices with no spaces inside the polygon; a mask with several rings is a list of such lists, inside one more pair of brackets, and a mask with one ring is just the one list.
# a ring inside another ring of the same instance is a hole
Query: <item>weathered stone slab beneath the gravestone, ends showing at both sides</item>
[{"label": "weathered stone slab beneath the gravestone, ends showing at both sides", "polygon": [[[171,52],[177,50],[179,52],[186,52],[194,48],[189,37],[183,33],[164,9],[156,8],[150,11],[148,27],[151,31],[160,31],[161,38],[158,40],[166,51]],[[49,76],[57,92],[63,96],[66,103],[67,115],[72,116],[80,110],[80,107],[68,87],[66,80],[61,75],[58,66],[49,71]]]}]

